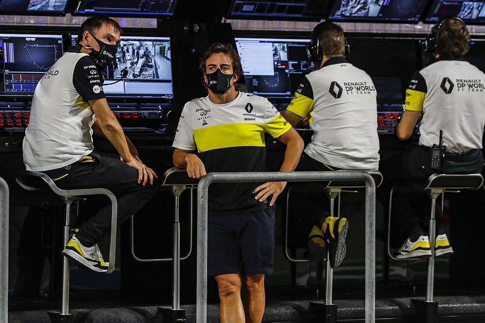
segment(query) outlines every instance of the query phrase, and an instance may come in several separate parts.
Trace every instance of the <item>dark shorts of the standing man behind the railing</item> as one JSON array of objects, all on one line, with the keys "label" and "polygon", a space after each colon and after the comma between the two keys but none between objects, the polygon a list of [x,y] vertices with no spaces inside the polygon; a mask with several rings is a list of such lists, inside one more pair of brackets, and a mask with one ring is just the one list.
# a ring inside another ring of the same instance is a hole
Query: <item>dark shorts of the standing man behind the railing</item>
[{"label": "dark shorts of the standing man behind the railing", "polygon": [[275,208],[208,220],[208,276],[271,274],[275,249]]}]

